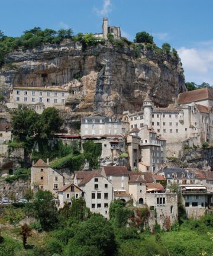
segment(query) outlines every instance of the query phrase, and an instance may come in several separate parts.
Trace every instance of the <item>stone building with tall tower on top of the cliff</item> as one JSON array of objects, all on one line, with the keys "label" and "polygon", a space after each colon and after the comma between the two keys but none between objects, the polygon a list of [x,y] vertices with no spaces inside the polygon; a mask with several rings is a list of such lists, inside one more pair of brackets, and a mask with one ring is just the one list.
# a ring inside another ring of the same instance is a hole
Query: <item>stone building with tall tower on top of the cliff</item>
[{"label": "stone building with tall tower on top of the cliff", "polygon": [[93,34],[93,36],[107,39],[107,34],[112,34],[115,39],[121,39],[121,28],[108,25],[108,18],[103,18],[102,33]]}]

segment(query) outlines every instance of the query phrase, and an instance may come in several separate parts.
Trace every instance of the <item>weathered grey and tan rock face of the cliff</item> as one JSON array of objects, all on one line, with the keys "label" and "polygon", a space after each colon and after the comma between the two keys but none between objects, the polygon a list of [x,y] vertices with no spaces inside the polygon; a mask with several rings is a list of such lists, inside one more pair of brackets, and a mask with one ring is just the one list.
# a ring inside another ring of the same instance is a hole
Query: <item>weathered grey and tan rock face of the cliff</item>
[{"label": "weathered grey and tan rock face of the cliff", "polygon": [[136,57],[130,47],[109,42],[86,49],[64,41],[7,57],[0,70],[0,90],[9,97],[15,86],[60,87],[70,91],[66,110],[98,112],[108,116],[125,110],[139,111],[150,89],[159,106],[173,103],[185,91],[185,79],[178,57],[154,50],[141,50]]}]

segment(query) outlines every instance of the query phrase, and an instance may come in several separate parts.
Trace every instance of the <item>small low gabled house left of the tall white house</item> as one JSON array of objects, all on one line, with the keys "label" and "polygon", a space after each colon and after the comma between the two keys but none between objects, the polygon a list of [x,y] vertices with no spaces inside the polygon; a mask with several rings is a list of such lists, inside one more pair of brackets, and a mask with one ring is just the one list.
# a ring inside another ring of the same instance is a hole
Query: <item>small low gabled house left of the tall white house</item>
[{"label": "small low gabled house left of the tall white house", "polygon": [[81,190],[78,186],[73,183],[65,184],[63,187],[59,188],[57,191],[59,195],[59,208],[64,207],[64,203],[66,202],[69,206],[72,204],[72,198],[79,199],[79,197],[83,198],[83,190]]}]

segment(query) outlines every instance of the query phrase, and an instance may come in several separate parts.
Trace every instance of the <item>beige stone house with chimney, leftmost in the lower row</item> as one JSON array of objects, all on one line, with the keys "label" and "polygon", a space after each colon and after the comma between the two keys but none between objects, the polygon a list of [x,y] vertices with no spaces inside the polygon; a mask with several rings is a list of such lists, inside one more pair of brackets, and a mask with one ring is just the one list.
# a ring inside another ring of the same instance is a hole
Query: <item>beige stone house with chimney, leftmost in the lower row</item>
[{"label": "beige stone house with chimney, leftmost in the lower row", "polygon": [[49,166],[49,159],[44,162],[43,159],[38,159],[33,162],[31,167],[31,188],[40,190],[49,190],[54,196],[57,196],[57,191],[64,185],[64,177],[58,171]]}]

